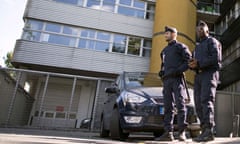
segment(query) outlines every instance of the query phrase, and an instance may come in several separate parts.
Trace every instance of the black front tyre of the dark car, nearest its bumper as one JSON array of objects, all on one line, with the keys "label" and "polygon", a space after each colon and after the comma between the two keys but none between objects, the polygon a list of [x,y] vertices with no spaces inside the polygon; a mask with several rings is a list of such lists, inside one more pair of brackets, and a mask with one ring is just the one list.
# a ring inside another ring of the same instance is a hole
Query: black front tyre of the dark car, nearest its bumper
[{"label": "black front tyre of the dark car, nearest its bumper", "polygon": [[125,140],[129,136],[129,133],[124,133],[119,122],[118,110],[114,109],[110,121],[110,137],[112,139]]}]

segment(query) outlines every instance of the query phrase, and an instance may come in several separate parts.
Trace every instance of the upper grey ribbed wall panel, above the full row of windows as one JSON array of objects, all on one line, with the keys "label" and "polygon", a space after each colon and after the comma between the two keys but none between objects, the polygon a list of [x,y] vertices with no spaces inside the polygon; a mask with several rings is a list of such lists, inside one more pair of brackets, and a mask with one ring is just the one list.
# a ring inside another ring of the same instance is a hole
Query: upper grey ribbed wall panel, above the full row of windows
[{"label": "upper grey ribbed wall panel, above the full row of windows", "polygon": [[46,0],[30,0],[24,17],[152,38],[153,22]]}]

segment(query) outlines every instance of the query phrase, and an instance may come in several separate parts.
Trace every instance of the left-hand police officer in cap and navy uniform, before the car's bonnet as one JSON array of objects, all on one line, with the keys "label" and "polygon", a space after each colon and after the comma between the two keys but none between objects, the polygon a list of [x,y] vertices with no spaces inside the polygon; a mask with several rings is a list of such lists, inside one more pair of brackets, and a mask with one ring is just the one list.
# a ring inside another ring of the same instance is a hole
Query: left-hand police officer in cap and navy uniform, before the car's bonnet
[{"label": "left-hand police officer in cap and navy uniform, before the car's bonnet", "polygon": [[191,52],[183,43],[176,40],[177,30],[173,27],[165,27],[165,39],[168,45],[161,52],[161,70],[159,76],[163,79],[164,95],[164,130],[165,133],[156,140],[172,141],[174,110],[177,108],[177,122],[179,140],[185,141],[186,122],[186,89],[183,81],[183,72],[188,69],[188,61]]}]

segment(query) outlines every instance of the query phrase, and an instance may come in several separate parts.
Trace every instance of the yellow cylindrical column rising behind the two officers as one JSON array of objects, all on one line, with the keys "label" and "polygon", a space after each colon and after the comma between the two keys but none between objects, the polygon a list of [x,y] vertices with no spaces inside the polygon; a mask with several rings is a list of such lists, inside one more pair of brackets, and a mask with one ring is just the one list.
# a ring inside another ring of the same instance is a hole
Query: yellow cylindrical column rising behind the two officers
[{"label": "yellow cylindrical column rising behind the two officers", "polygon": [[[193,2],[196,3],[196,0]],[[153,47],[150,71],[160,70],[160,52],[167,45],[164,38],[164,27],[176,27],[178,40],[185,43],[190,50],[195,47],[196,7],[191,1],[158,0],[156,2],[155,21],[153,28]],[[186,36],[189,38],[186,38]],[[193,82],[193,75],[187,74],[188,80]]]}]

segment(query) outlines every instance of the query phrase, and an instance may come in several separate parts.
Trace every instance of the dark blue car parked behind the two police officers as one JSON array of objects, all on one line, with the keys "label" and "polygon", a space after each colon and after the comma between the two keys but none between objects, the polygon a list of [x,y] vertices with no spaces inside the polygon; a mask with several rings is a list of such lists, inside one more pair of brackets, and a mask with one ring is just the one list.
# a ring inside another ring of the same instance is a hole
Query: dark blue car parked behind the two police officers
[{"label": "dark blue car parked behind the two police officers", "polygon": [[[162,81],[158,74],[145,72],[124,72],[116,82],[105,89],[108,94],[101,114],[101,137],[127,139],[131,132],[152,132],[155,137],[164,132]],[[200,132],[196,116],[193,90],[187,104],[188,130],[191,136]],[[177,116],[177,110],[175,110]],[[177,130],[175,116],[174,128]]]}]

